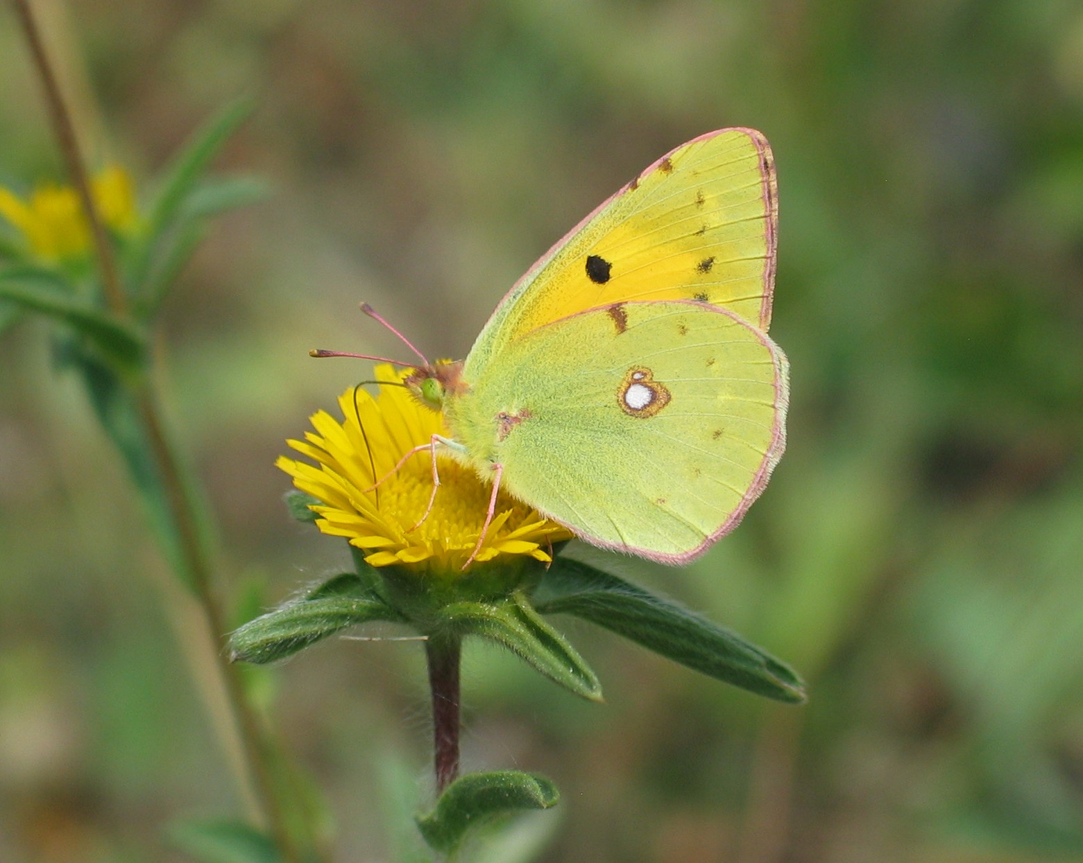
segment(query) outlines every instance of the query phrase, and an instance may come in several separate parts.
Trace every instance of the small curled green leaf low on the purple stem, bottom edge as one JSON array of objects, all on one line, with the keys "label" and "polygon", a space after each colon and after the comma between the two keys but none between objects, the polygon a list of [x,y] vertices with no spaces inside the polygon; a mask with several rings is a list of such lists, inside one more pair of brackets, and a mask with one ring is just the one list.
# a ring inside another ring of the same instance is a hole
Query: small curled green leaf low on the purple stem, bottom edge
[{"label": "small curled green leaf low on the purple stem, bottom edge", "polygon": [[418,816],[417,826],[433,850],[451,854],[479,826],[523,810],[550,809],[559,799],[557,786],[537,773],[468,773],[447,786],[430,813]]}]

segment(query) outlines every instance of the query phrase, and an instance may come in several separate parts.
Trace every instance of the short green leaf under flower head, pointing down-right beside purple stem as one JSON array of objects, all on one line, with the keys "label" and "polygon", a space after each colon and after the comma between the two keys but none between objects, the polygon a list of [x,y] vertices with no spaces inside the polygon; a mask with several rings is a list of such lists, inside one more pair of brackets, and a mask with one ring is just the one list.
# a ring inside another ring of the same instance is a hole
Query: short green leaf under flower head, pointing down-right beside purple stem
[{"label": "short green leaf under flower head, pointing down-right beside purple stem", "polygon": [[504,645],[576,695],[602,700],[601,683],[590,666],[521,595],[487,602],[453,602],[440,614],[459,634],[478,635]]}]

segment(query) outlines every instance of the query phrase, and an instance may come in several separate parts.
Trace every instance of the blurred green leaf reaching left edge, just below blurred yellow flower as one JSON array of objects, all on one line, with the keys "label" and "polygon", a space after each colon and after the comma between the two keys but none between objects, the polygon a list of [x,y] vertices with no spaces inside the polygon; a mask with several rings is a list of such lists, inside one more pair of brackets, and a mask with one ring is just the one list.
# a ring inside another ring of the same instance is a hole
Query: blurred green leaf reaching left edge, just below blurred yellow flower
[{"label": "blurred green leaf reaching left edge, just below blurred yellow flower", "polygon": [[67,323],[121,369],[133,371],[143,361],[144,342],[136,330],[73,296],[51,270],[31,266],[0,270],[0,300]]}]

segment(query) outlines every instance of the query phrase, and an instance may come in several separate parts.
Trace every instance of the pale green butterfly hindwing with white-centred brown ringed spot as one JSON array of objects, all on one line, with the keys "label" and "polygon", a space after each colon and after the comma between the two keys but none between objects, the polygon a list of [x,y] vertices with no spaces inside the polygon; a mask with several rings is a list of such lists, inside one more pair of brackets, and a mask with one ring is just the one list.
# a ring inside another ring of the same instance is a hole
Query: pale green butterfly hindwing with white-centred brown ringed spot
[{"label": "pale green butterfly hindwing with white-centred brown ringed spot", "polygon": [[740,316],[627,302],[527,332],[445,410],[517,497],[598,545],[681,562],[762,490],[786,398],[785,357]]}]

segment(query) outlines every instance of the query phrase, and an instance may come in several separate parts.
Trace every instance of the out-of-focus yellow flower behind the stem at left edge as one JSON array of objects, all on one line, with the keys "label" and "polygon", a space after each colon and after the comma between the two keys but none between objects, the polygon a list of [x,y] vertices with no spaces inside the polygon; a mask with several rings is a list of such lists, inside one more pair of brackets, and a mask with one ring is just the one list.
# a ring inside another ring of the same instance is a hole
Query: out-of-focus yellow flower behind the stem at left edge
[{"label": "out-of-focus yellow flower behind the stem at left edge", "polygon": [[[132,234],[139,226],[135,192],[122,168],[106,168],[91,181],[91,194],[106,227]],[[79,195],[71,186],[38,186],[27,200],[0,187],[0,215],[25,238],[30,251],[50,262],[78,257],[90,251],[90,226]]]}]

